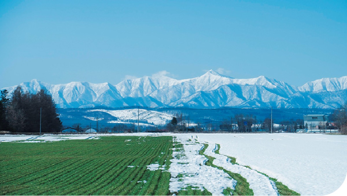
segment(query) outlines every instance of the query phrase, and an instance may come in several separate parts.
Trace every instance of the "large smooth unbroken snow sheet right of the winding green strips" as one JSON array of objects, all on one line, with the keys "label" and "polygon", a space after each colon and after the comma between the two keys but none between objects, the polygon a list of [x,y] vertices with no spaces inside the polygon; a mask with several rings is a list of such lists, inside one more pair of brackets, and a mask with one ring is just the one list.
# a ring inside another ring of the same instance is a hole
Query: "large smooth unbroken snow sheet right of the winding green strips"
[{"label": "large smooth unbroken snow sheet right of the winding green strips", "polygon": [[[192,134],[186,134],[191,137]],[[196,134],[220,154],[277,178],[302,195],[337,190],[347,173],[347,136],[324,134]]]}]

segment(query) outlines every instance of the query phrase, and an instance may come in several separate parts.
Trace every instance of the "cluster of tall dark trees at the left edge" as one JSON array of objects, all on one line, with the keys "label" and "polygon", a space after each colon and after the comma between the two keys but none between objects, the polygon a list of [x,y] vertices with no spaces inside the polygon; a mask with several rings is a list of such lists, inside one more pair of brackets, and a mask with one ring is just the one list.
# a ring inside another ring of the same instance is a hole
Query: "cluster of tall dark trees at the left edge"
[{"label": "cluster of tall dark trees at the left edge", "polygon": [[52,96],[41,89],[36,94],[24,93],[17,86],[11,93],[1,91],[0,130],[17,133],[40,132],[40,113],[42,133],[61,131],[61,121],[56,112],[56,104]]}]

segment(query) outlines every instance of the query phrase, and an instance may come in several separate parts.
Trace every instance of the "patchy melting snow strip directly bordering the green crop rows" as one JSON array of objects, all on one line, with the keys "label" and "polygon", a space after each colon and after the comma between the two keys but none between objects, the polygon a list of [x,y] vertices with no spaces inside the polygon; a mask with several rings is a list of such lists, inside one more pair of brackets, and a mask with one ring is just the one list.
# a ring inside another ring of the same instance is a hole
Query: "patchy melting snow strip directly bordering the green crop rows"
[{"label": "patchy melting snow strip directly bordering the green crop rows", "polygon": [[[175,141],[175,140],[174,140]],[[173,159],[169,168],[171,173],[171,192],[177,192],[188,186],[200,190],[208,190],[212,195],[223,195],[223,189],[230,187],[235,190],[236,181],[217,168],[206,166],[205,156],[199,155],[203,144],[189,142],[187,139],[177,137],[177,142],[183,148],[174,148]]]}]

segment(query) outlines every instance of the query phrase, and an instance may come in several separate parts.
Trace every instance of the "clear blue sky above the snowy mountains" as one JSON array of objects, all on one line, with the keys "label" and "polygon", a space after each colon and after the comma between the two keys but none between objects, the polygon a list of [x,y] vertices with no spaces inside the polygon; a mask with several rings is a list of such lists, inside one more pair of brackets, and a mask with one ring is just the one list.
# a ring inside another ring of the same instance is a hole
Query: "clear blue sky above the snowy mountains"
[{"label": "clear blue sky above the snowy mountains", "polygon": [[0,0],[0,88],[214,69],[292,85],[347,75],[346,0]]}]

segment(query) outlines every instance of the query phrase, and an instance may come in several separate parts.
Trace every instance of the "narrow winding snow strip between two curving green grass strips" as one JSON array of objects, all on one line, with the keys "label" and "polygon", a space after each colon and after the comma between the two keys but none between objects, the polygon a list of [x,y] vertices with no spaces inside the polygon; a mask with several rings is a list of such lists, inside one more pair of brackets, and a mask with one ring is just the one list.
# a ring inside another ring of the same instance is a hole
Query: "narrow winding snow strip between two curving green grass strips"
[{"label": "narrow winding snow strip between two curving green grass strips", "polygon": [[268,177],[242,165],[232,164],[229,157],[214,153],[216,149],[216,144],[209,144],[205,150],[205,154],[215,158],[213,160],[214,165],[220,166],[230,172],[238,173],[244,177],[249,183],[249,188],[253,190],[254,195],[279,195],[274,182]]}]

